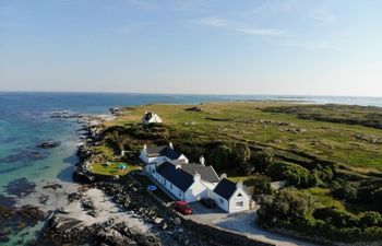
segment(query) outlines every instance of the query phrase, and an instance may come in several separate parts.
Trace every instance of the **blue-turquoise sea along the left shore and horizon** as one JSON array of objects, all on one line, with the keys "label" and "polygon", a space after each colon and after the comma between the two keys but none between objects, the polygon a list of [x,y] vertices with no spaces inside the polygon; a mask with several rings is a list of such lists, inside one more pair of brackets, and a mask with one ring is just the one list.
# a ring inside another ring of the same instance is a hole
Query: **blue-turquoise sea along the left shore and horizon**
[{"label": "blue-turquoise sea along the left shore and horizon", "polygon": [[[51,118],[56,112],[108,114],[110,107],[117,106],[244,99],[382,107],[382,97],[0,92],[0,206],[36,204],[52,211],[76,189],[71,174],[77,161],[81,125],[75,119]],[[61,141],[61,145],[49,150],[36,147],[46,140]],[[62,188],[46,188],[52,184]],[[0,245],[24,245],[36,237],[41,226],[43,222],[10,231],[7,239],[0,232]]]}]

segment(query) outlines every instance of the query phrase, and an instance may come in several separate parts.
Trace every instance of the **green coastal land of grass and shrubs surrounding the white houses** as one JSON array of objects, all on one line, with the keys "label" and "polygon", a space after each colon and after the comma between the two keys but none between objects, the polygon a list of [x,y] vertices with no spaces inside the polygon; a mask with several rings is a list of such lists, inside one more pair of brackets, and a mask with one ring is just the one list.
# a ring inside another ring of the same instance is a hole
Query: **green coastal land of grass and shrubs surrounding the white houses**
[{"label": "green coastal land of grass and shrubs surrounding the white houses", "polygon": [[[160,122],[148,122],[147,112],[160,116]],[[182,224],[191,234],[198,234],[191,229],[200,226],[211,234],[219,231],[219,238],[208,234],[201,241],[239,245],[248,239],[260,245],[252,229],[240,230],[246,216],[251,218],[246,227],[319,244],[379,245],[381,128],[379,107],[288,102],[121,107],[115,120],[89,127],[89,140],[80,147],[81,162],[73,177],[95,184],[122,207],[134,211],[141,207],[143,213],[156,211],[160,214],[157,224],[166,229]],[[229,215],[237,218],[236,227],[222,222],[228,212],[222,210],[216,215],[216,210],[201,209],[198,201],[190,203],[196,211],[192,215],[174,210],[174,201],[184,199],[174,197],[166,183],[153,178],[142,160],[144,148],[169,143],[188,162],[211,166],[218,180],[242,185],[251,206]],[[120,190],[110,184],[135,187],[134,191],[121,191],[129,194],[129,204],[123,204]],[[152,186],[156,188],[147,190]],[[147,199],[155,206],[145,211]],[[156,219],[152,220],[155,223]]]}]

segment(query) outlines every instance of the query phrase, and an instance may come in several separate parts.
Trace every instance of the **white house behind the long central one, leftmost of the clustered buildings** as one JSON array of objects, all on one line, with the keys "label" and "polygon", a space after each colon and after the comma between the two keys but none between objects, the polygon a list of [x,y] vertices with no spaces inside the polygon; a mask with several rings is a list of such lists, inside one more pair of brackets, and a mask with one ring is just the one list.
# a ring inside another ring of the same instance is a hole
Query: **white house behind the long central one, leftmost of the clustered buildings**
[{"label": "white house behind the long central one, leftmost of the clustered buildings", "polygon": [[140,159],[145,164],[145,171],[148,174],[153,174],[155,168],[164,162],[178,161],[179,163],[188,163],[189,160],[181,153],[174,150],[172,143],[160,147],[143,145],[140,154]]}]

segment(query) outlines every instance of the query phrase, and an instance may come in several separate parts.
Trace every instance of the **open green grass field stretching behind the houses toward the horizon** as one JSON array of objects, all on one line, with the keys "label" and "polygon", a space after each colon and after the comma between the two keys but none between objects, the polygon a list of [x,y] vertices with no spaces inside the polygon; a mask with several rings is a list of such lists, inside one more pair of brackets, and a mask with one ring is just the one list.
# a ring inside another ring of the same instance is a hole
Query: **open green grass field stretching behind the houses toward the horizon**
[{"label": "open green grass field stretching behind the houses toward the horizon", "polygon": [[[140,124],[143,113],[152,110],[163,118],[165,125],[184,136],[199,136],[200,140],[247,141],[323,156],[360,172],[382,171],[382,131],[379,129],[264,110],[296,106],[291,103],[229,102],[198,106],[203,112],[184,110],[190,105],[138,106],[122,112],[107,126]],[[325,112],[330,112],[330,107]]]}]

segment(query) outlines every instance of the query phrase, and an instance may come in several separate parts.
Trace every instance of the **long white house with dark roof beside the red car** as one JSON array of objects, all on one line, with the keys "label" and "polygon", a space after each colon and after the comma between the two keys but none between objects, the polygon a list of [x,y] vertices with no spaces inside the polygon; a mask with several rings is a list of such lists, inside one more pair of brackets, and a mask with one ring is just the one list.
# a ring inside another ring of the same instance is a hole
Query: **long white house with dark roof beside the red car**
[{"label": "long white house with dark roof beside the red car", "polygon": [[177,199],[187,202],[211,197],[210,187],[219,181],[214,167],[179,161],[160,164],[152,176]]}]

